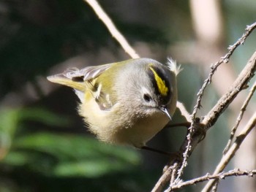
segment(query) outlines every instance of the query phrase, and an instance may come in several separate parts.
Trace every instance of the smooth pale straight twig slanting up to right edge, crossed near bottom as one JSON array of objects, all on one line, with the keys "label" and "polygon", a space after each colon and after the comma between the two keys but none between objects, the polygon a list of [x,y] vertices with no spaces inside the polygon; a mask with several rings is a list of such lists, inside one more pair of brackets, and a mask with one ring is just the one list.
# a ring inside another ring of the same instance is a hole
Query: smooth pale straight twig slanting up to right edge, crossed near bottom
[{"label": "smooth pale straight twig slanting up to right edge, crossed near bottom", "polygon": [[[217,165],[214,174],[219,174],[219,172],[222,172],[223,169],[227,166],[227,164],[230,162],[231,158],[235,155],[236,151],[240,147],[241,143],[244,141],[246,136],[249,134],[250,131],[252,131],[252,128],[255,128],[256,126],[256,112],[254,115],[252,115],[252,118],[250,118],[249,122],[246,124],[244,129],[241,131],[241,133],[236,137],[236,141],[233,143],[233,145],[227,150],[227,153],[222,156],[221,161],[219,161],[219,164]],[[216,183],[217,180],[211,180],[209,181],[206,186],[203,188],[202,192],[208,192],[211,190],[214,183]]]}]

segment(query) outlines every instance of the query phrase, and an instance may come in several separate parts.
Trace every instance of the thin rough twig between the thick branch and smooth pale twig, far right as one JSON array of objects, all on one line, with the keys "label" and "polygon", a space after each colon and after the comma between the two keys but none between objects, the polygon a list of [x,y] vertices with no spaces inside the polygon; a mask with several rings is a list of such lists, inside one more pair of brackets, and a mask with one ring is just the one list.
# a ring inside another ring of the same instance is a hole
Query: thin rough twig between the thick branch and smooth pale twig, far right
[{"label": "thin rough twig between the thick branch and smooth pale twig, far right", "polygon": [[233,128],[231,130],[230,139],[228,139],[227,145],[226,145],[225,149],[223,150],[223,154],[227,153],[227,150],[230,148],[230,145],[233,142],[233,138],[236,134],[236,129],[238,128],[238,126],[244,116],[246,107],[249,104],[249,101],[252,99],[252,96],[253,96],[253,93],[255,93],[255,90],[256,90],[256,81],[255,81],[255,84],[252,86],[251,90],[249,91],[249,95],[247,96],[246,100],[244,101],[243,106],[241,107],[238,118],[236,119],[236,124],[235,124],[235,126],[233,126]]}]

